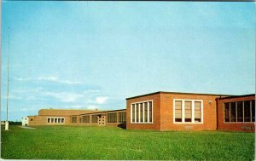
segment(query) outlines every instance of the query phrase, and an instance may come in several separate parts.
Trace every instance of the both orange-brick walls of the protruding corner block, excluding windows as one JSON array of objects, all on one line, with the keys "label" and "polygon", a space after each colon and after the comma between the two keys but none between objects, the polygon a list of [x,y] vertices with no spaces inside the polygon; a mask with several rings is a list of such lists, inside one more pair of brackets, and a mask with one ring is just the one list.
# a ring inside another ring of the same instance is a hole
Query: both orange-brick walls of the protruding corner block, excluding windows
[{"label": "both orange-brick walls of the protruding corner block, excluding windows", "polygon": [[[154,130],[216,130],[217,109],[215,99],[218,95],[196,95],[196,94],[170,94],[157,93],[131,98],[126,101],[126,127],[127,129],[154,129]],[[203,123],[202,124],[174,124],[173,121],[173,99],[201,100],[203,101]],[[131,103],[139,101],[154,101],[154,123],[153,124],[131,124]]]}]

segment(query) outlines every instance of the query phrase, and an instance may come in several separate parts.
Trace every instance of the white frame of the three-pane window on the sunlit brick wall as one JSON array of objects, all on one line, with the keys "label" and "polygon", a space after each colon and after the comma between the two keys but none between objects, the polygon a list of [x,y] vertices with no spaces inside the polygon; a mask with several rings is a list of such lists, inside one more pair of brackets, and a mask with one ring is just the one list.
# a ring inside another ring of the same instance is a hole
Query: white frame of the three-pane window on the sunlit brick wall
[{"label": "white frame of the three-pane window on the sunlit brick wall", "polygon": [[[182,101],[182,122],[176,122],[175,121],[175,101]],[[185,101],[191,101],[192,103],[192,117],[191,122],[185,122]],[[201,122],[195,122],[195,101],[201,102]],[[204,118],[204,107],[203,107],[203,101],[202,100],[189,100],[189,99],[173,99],[173,124],[203,124]]]}]

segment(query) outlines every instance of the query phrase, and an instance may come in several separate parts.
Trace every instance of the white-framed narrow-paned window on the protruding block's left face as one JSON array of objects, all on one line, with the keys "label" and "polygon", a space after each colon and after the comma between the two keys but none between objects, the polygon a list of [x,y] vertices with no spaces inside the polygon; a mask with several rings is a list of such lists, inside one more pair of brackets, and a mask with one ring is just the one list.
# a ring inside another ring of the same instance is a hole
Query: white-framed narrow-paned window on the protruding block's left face
[{"label": "white-framed narrow-paned window on the protruding block's left face", "polygon": [[153,123],[153,101],[143,101],[131,104],[131,123]]}]

